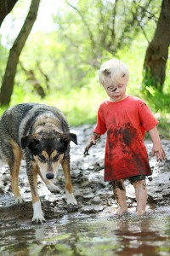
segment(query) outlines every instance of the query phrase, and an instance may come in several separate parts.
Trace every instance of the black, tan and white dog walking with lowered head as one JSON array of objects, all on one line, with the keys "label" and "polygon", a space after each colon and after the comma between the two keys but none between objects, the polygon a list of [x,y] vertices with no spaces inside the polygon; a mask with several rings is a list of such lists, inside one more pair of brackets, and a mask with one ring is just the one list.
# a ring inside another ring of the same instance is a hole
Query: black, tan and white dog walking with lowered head
[{"label": "black, tan and white dog walking with lowered head", "polygon": [[20,195],[20,161],[26,159],[26,174],[31,187],[33,222],[45,222],[37,193],[37,174],[50,191],[59,188],[52,183],[61,164],[65,175],[67,204],[77,205],[71,186],[70,142],[77,144],[65,115],[58,108],[38,103],[23,103],[8,108],[0,119],[0,156],[8,164],[11,187],[16,203]]}]

